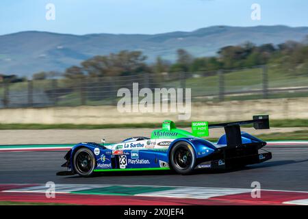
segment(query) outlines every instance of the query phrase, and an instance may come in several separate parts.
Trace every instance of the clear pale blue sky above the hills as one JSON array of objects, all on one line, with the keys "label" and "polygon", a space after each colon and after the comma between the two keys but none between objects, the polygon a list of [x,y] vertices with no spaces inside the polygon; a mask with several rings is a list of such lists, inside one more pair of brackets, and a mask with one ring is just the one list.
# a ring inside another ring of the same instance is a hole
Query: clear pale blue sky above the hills
[{"label": "clear pale blue sky above the hills", "polygon": [[[47,3],[55,21],[47,21]],[[251,5],[261,21],[251,20]],[[0,35],[18,31],[65,34],[157,34],[213,25],[308,26],[304,0],[1,0]]]}]

